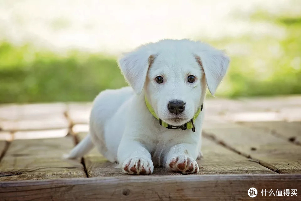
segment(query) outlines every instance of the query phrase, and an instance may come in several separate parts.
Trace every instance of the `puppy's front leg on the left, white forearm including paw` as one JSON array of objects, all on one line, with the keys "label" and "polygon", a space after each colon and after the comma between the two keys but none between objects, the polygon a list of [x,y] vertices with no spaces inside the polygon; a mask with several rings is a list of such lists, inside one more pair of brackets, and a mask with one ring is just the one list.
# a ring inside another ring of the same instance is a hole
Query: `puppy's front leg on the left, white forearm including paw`
[{"label": "puppy's front leg on the left, white forearm including paw", "polygon": [[118,148],[118,161],[129,174],[151,174],[154,165],[150,152],[135,140],[122,140]]}]

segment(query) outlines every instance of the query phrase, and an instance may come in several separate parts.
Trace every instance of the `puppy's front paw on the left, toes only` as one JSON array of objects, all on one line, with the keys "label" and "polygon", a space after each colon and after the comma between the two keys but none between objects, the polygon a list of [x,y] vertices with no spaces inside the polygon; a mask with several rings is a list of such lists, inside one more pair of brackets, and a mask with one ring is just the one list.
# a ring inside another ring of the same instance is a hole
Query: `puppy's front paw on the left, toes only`
[{"label": "puppy's front paw on the left, toes only", "polygon": [[137,175],[148,175],[153,173],[153,162],[147,157],[130,157],[122,165],[124,172]]}]

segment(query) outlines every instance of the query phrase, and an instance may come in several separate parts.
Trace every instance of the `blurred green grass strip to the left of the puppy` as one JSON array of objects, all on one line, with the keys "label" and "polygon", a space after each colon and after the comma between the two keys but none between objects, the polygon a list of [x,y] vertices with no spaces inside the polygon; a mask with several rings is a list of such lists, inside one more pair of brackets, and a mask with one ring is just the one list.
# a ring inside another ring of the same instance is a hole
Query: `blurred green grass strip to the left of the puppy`
[{"label": "blurred green grass strip to the left of the puppy", "polygon": [[0,45],[1,103],[91,101],[101,90],[125,85],[115,58]]}]

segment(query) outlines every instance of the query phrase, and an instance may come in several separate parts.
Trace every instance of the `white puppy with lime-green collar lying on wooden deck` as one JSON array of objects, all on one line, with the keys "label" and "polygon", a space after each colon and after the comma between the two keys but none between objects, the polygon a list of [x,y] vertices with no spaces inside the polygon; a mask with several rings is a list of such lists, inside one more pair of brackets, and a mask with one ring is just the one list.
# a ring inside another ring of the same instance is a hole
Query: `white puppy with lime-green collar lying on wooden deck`
[{"label": "white puppy with lime-green collar lying on wooden deck", "polygon": [[224,52],[189,40],[162,40],[125,54],[119,66],[131,87],[96,97],[90,134],[69,158],[95,145],[129,174],[151,174],[154,166],[197,173],[205,92],[208,86],[214,94],[228,63]]}]

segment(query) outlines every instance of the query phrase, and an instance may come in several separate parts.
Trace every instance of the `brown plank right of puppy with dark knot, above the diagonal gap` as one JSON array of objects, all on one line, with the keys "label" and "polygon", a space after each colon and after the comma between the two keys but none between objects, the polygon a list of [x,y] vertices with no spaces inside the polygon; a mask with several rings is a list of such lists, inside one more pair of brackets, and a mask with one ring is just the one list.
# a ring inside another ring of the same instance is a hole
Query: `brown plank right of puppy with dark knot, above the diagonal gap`
[{"label": "brown plank right of puppy with dark knot, above the diagonal gap", "polygon": [[277,138],[269,132],[229,123],[225,128],[205,128],[203,136],[229,149],[258,160],[278,173],[301,172],[301,147]]}]

